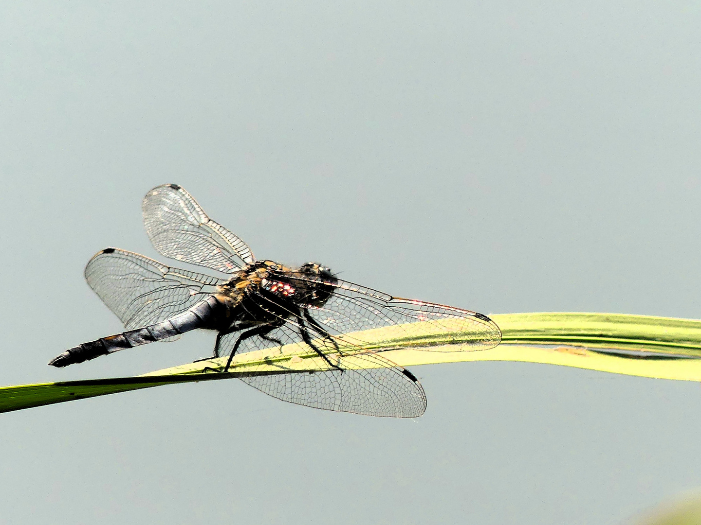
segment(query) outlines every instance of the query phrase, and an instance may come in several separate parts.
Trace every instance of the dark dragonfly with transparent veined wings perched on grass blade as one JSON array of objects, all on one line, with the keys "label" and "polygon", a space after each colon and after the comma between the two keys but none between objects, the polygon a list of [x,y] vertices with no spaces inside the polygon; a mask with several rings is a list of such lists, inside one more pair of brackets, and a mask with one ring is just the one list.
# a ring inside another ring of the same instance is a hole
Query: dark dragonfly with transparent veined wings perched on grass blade
[{"label": "dark dragonfly with transparent veined wings perched on grass blade", "polygon": [[223,367],[208,370],[229,372],[240,354],[271,347],[282,351],[285,345],[297,344],[315,357],[309,370],[240,379],[298,405],[416,417],[426,410],[421,383],[382,355],[397,346],[371,344],[362,334],[394,327],[410,340],[416,339],[419,326],[421,333],[461,334],[455,344],[444,342],[440,351],[483,350],[501,341],[498,326],[484,314],[393,297],[343,281],[317,262],[288,267],[258,260],[242,239],[207,216],[177,184],[150,190],[142,211],[158,253],[221,275],[105,248],[88,261],[85,277],[125,331],[79,344],[49,365],[65,367],[142,344],[172,341],[191,330],[213,330],[217,336],[211,359],[222,359]]}]

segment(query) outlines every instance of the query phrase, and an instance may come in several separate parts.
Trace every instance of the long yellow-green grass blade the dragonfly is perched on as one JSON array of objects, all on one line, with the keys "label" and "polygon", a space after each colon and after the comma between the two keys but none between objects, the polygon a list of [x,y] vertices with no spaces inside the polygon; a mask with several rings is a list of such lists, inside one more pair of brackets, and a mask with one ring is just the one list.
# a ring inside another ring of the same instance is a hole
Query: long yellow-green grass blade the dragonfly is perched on
[{"label": "long yellow-green grass blade the dragonfly is perched on", "polygon": [[[642,377],[701,381],[701,321],[624,314],[544,312],[497,314],[499,346],[470,351],[469,335],[437,332],[430,323],[413,323],[411,337],[397,327],[365,330],[353,339],[368,342],[402,366],[475,360],[547,363]],[[343,346],[343,345],[342,345]],[[353,353],[357,348],[347,346]],[[613,353],[611,353],[613,351]],[[353,363],[353,361],[348,361]],[[157,370],[139,377],[89,379],[0,388],[0,412],[74,399],[151,388],[163,384],[230,379],[252,374],[321,370],[325,364],[304,345],[290,344],[236,356],[231,372],[205,373],[223,360],[206,360]],[[358,360],[357,366],[367,363]]]}]

